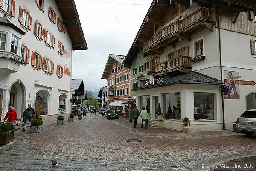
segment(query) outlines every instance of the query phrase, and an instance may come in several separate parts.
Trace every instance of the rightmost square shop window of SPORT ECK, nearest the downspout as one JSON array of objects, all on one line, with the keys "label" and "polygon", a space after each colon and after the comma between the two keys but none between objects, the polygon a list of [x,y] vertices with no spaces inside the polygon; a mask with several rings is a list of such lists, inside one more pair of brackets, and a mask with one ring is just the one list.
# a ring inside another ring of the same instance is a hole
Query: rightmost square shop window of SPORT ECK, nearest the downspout
[{"label": "rightmost square shop window of SPORT ECK, nearest the downspout", "polygon": [[194,120],[214,120],[214,93],[194,93]]}]

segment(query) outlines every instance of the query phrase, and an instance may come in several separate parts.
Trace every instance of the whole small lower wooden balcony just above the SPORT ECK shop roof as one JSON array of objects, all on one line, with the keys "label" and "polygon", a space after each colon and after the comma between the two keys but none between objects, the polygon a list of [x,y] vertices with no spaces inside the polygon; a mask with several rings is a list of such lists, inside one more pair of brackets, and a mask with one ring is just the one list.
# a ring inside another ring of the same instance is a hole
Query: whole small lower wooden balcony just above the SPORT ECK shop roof
[{"label": "whole small lower wooden balcony just above the SPORT ECK shop roof", "polygon": [[170,74],[170,72],[191,72],[191,57],[178,56],[171,60],[154,65],[154,76]]}]

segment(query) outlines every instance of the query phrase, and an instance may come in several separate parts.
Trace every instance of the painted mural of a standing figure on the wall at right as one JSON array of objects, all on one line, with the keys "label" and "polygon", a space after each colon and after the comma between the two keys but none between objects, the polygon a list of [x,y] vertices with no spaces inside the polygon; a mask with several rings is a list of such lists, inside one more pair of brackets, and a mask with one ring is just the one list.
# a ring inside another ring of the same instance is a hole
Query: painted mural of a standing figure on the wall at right
[{"label": "painted mural of a standing figure on the wall at right", "polygon": [[239,72],[224,71],[224,84],[229,85],[229,93],[224,96],[225,99],[240,99],[239,78]]}]

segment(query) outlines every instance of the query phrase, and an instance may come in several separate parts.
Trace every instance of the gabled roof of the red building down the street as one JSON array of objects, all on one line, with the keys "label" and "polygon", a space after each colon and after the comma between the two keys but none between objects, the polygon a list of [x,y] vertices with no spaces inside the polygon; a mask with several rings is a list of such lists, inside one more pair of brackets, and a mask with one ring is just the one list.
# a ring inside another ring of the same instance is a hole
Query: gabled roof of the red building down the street
[{"label": "gabled roof of the red building down the street", "polygon": [[105,69],[102,74],[102,79],[108,79],[108,75],[110,74],[110,70],[113,67],[114,61],[119,62],[120,64],[123,63],[126,56],[124,55],[114,55],[109,54],[108,55],[108,61],[106,63]]}]

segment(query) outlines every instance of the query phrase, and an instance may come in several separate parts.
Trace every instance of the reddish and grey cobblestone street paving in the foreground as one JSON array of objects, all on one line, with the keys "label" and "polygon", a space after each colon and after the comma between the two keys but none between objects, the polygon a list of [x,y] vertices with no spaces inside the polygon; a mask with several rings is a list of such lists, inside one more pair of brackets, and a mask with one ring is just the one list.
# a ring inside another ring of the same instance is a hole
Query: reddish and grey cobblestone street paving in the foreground
[{"label": "reddish and grey cobblestone street paving in the foreground", "polygon": [[[37,134],[16,131],[14,142],[0,147],[0,170],[209,170],[201,165],[256,156],[255,136],[229,130],[182,133],[139,124],[134,129],[127,118],[98,114],[43,127]],[[51,159],[61,165],[52,167]]]}]

